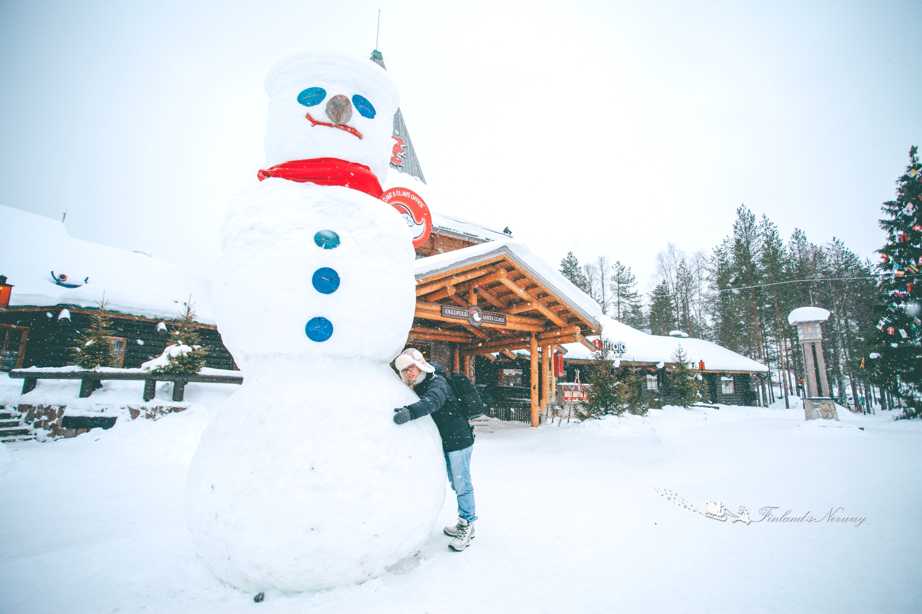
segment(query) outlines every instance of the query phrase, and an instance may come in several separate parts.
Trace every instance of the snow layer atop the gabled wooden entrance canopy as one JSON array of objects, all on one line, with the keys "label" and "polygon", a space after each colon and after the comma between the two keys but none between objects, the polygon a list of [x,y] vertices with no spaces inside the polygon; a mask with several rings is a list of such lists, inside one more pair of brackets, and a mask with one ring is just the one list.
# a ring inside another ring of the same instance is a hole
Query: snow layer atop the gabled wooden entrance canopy
[{"label": "snow layer atop the gabled wooden entrance canopy", "polygon": [[598,307],[598,303],[573,285],[570,280],[550,266],[548,262],[539,258],[524,243],[508,237],[463,249],[447,251],[429,258],[420,258],[420,260],[416,261],[414,269],[416,278],[419,280],[436,273],[451,271],[466,264],[499,256],[504,256],[514,261],[523,271],[548,288],[558,298],[565,301],[567,305],[573,307],[573,310],[592,324],[593,328],[598,328],[599,318],[602,316],[602,309]]}]

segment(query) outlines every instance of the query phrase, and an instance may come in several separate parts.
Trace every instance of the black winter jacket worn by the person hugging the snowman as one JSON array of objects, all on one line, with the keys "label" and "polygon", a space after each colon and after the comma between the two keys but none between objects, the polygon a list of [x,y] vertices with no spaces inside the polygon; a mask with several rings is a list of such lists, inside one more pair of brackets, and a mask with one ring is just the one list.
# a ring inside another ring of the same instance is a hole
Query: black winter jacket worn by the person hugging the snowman
[{"label": "black winter jacket worn by the person hugging the snowman", "polygon": [[444,452],[473,446],[474,434],[467,423],[467,417],[460,411],[455,393],[445,380],[445,370],[438,363],[430,365],[435,367],[435,373],[427,373],[426,378],[413,387],[413,391],[420,395],[420,400],[407,406],[410,416],[416,420],[431,414],[432,421],[442,435]]}]

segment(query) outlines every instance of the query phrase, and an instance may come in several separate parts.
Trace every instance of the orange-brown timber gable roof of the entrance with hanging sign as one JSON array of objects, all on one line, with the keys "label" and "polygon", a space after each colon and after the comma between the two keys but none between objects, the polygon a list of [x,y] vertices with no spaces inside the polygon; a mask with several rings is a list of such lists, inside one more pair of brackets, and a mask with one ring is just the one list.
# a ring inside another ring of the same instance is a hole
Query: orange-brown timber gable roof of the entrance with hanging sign
[{"label": "orange-brown timber gable roof of the entrance with hanging sign", "polygon": [[[417,275],[416,317],[409,339],[460,343],[460,353],[487,354],[538,345],[586,341],[600,329],[596,319],[568,304],[561,292],[508,249],[454,261]],[[467,308],[476,302],[487,314],[505,316],[505,324],[446,317],[442,306]],[[593,348],[595,349],[595,348]]]}]

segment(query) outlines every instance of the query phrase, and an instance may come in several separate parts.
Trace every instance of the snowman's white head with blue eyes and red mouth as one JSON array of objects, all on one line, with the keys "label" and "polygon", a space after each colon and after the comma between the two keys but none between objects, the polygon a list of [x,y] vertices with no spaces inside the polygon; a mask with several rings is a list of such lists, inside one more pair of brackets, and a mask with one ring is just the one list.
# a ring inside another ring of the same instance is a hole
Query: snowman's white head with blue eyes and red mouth
[{"label": "snowman's white head with blue eyes and red mouth", "polygon": [[266,75],[266,164],[337,157],[382,183],[394,145],[394,83],[371,60],[346,52],[292,55]]}]

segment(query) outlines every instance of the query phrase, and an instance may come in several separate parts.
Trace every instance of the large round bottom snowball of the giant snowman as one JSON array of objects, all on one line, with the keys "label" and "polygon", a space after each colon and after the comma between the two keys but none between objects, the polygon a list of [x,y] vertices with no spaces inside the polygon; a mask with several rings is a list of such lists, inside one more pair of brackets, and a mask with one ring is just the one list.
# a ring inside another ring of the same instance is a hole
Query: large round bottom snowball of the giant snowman
[{"label": "large round bottom snowball of the giant snowman", "polygon": [[[426,416],[397,426],[417,400],[387,365],[273,361],[247,377],[202,434],[186,481],[195,548],[247,591],[363,582],[411,557],[442,509],[442,441]],[[361,373],[361,377],[350,377]],[[266,392],[268,391],[268,392]]]}]

